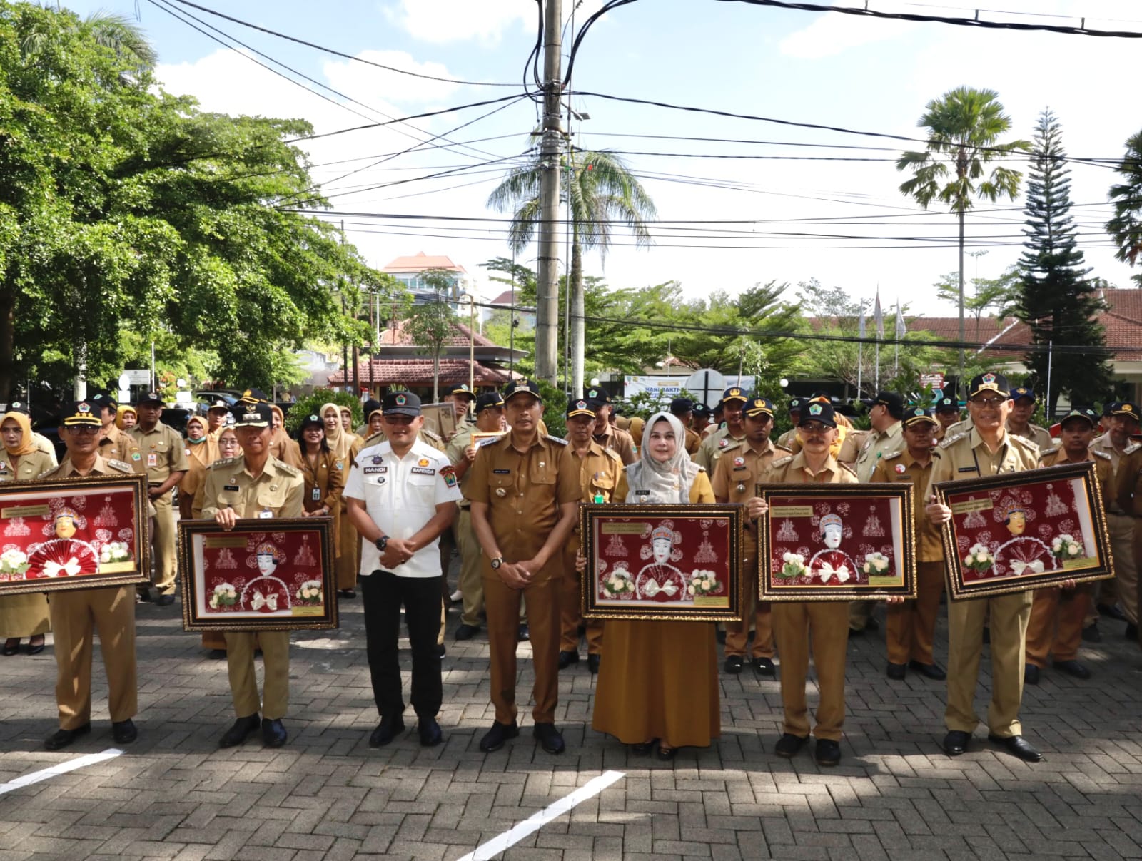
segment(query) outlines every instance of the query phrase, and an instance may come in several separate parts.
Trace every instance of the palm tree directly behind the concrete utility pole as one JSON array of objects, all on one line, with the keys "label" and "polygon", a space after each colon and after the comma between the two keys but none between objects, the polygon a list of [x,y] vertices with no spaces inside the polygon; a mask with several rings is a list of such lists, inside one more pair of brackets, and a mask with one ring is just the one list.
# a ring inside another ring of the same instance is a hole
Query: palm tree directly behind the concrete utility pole
[{"label": "palm tree directly behind the concrete utility pole", "polygon": [[[528,164],[513,168],[488,198],[488,206],[499,212],[512,212],[508,242],[515,251],[531,242],[541,217],[539,188],[542,168],[537,155]],[[577,151],[561,161],[565,180],[564,201],[571,202],[571,343],[572,391],[582,391],[584,295],[582,251],[597,248],[605,257],[611,244],[612,227],[626,224],[635,242],[650,246],[652,240],[646,220],[656,216],[654,201],[613,153]]]}]

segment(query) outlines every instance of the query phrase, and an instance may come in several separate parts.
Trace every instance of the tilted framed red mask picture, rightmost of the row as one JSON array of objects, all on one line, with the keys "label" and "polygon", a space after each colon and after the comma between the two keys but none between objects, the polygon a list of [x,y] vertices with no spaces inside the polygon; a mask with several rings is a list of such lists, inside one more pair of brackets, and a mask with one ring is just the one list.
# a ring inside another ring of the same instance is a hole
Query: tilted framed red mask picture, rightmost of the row
[{"label": "tilted framed red mask picture, rightmost of the row", "polygon": [[1000,595],[1113,577],[1094,464],[940,482],[948,592]]}]

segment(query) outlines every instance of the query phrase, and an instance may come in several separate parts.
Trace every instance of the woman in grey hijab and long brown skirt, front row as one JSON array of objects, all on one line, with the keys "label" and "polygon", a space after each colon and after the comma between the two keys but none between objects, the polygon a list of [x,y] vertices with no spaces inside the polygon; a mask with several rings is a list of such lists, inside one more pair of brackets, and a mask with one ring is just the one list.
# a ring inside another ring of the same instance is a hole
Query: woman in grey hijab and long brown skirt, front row
[{"label": "woman in grey hijab and long brown skirt, front row", "polygon": [[[685,438],[676,417],[651,416],[643,428],[642,459],[619,476],[614,501],[715,501],[709,476],[690,460]],[[577,558],[580,570],[586,564]],[[673,759],[679,747],[709,747],[722,734],[718,713],[713,622],[606,621],[593,729],[630,745],[636,754],[649,754],[657,745],[659,759]]]}]

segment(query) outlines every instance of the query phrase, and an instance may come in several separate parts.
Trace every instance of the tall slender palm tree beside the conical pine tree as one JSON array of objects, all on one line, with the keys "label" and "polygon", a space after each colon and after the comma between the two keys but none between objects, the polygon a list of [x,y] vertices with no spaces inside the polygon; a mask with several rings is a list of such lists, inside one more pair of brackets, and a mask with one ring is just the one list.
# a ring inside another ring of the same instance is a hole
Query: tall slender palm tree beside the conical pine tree
[{"label": "tall slender palm tree beside the conical pine tree", "polygon": [[[964,341],[964,216],[972,208],[972,196],[992,203],[1000,194],[1012,200],[1019,194],[1023,175],[1011,168],[984,166],[1015,150],[1027,152],[1028,140],[998,143],[1011,129],[995,90],[957,87],[928,102],[917,126],[927,129],[927,148],[906,152],[896,160],[896,170],[911,170],[912,178],[901,183],[900,192],[925,209],[934,200],[948,204],[959,220],[959,340]],[[959,348],[959,385],[964,384],[964,347]]]}]

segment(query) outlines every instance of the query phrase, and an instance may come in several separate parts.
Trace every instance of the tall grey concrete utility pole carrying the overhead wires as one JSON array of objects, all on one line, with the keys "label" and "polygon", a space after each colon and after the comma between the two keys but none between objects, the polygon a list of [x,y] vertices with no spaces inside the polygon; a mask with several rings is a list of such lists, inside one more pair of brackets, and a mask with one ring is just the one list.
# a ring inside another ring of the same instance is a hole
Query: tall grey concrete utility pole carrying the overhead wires
[{"label": "tall grey concrete utility pole carrying the overhead wires", "polygon": [[536,376],[555,384],[558,375],[558,234],[560,150],[563,143],[562,0],[547,0],[544,18],[544,132],[539,143],[542,177],[539,202],[539,277],[536,296]]}]

